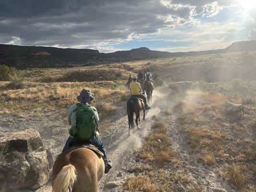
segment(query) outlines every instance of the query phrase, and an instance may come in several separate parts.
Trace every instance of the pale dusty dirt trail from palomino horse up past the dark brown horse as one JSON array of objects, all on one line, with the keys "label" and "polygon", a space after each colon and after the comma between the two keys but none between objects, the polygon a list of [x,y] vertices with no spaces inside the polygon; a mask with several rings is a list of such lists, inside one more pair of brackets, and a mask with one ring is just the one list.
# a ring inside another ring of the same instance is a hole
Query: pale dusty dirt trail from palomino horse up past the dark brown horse
[{"label": "pale dusty dirt trail from palomino horse up past the dark brown horse", "polygon": [[107,189],[104,186],[106,183],[112,181],[124,182],[125,178],[129,177],[127,170],[136,161],[134,153],[140,149],[143,140],[150,131],[152,117],[161,111],[155,104],[156,100],[159,100],[163,96],[158,89],[154,90],[152,101],[149,103],[151,109],[146,111],[146,120],[142,121],[139,125],[141,127],[140,130],[135,127],[131,131],[131,136],[128,135],[129,127],[126,106],[123,106],[120,113],[116,114],[117,116],[123,114],[124,117],[110,124],[108,129],[109,134],[103,139],[108,158],[111,160],[113,168],[99,181],[100,192],[122,191],[122,186],[113,189]]}]

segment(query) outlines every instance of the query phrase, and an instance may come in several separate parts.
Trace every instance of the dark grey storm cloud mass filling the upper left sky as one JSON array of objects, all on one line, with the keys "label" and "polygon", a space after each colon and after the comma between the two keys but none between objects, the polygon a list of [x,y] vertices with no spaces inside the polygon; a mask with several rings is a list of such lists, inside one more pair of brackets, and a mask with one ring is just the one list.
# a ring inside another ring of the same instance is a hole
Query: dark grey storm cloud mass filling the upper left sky
[{"label": "dark grey storm cloud mass filling the upper left sky", "polygon": [[189,22],[196,7],[212,2],[1,0],[0,43],[81,48],[118,43]]}]

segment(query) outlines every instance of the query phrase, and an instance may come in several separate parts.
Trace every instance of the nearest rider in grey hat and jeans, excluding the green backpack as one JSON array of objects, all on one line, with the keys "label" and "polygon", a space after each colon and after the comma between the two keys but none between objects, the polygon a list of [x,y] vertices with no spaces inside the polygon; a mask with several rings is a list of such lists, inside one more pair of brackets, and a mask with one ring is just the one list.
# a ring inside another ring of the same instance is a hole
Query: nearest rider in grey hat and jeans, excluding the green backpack
[{"label": "nearest rider in grey hat and jeans, excluding the green backpack", "polygon": [[[72,105],[69,107],[68,109],[68,124],[71,125],[71,128],[75,128],[76,127],[76,109],[78,106],[85,106],[85,107],[91,107],[89,105],[89,103],[91,103],[91,101],[94,99],[94,94],[91,93],[90,90],[88,89],[83,89],[80,93],[79,96],[76,97],[78,101],[80,101],[80,103]],[[97,109],[95,107],[91,107],[93,109],[93,112],[95,114],[95,119],[96,121],[99,120],[98,118],[98,112]],[[97,123],[96,123],[97,124]],[[103,142],[101,141],[101,139],[99,138],[98,132],[95,132],[91,135],[90,140],[92,142],[93,145],[97,146],[98,149],[103,153],[103,160],[105,163],[105,173],[108,173],[110,168],[112,168],[111,163],[108,161],[107,156],[106,156],[106,150],[105,150],[105,146],[103,144]],[[68,149],[70,149],[70,143],[73,141],[73,137],[70,135],[68,140],[66,141],[66,144],[62,150],[62,153],[67,151]]]}]

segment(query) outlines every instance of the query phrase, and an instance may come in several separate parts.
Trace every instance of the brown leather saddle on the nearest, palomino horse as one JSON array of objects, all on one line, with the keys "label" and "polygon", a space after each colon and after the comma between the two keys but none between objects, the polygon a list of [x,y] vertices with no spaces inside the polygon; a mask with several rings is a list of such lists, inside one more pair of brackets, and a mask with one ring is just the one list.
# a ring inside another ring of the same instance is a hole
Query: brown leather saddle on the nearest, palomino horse
[{"label": "brown leather saddle on the nearest, palomino horse", "polygon": [[98,150],[98,147],[92,144],[91,140],[86,140],[86,141],[76,140],[76,141],[70,142],[69,145],[71,146],[71,149],[78,149],[83,147],[83,148],[92,150],[96,155],[104,156],[103,153],[100,150]]}]

